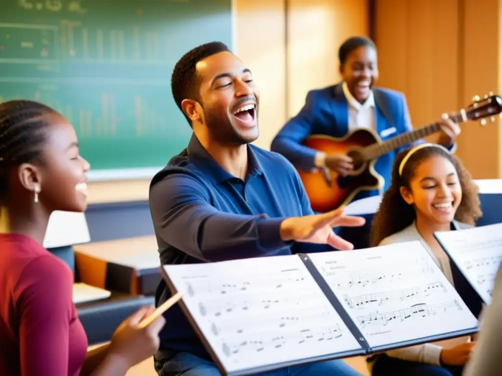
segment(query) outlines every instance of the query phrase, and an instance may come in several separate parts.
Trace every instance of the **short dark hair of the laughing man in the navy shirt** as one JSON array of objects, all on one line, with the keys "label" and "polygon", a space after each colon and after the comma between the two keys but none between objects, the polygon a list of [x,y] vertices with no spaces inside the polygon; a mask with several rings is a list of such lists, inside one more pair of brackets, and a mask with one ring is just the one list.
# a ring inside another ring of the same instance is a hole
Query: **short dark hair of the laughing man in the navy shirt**
[{"label": "short dark hair of the laughing man in the navy shirt", "polygon": [[[184,99],[192,99],[200,102],[200,82],[195,69],[197,63],[211,55],[224,51],[230,52],[229,48],[224,43],[209,42],[188,51],[178,60],[174,66],[173,75],[171,76],[171,90],[173,92],[174,101],[181,112],[183,112],[181,102]],[[191,126],[191,120],[188,116],[185,115],[185,117]]]}]

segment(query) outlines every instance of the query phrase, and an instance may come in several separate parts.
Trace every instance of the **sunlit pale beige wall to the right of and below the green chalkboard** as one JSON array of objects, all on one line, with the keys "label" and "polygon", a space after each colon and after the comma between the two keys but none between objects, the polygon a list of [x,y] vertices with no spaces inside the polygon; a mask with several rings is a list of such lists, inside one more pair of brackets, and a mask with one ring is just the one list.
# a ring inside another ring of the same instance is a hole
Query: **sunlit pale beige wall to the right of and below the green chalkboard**
[{"label": "sunlit pale beige wall to the right of and below the green chalkboard", "polygon": [[[338,81],[338,46],[351,35],[367,35],[368,1],[234,2],[236,51],[253,71],[261,93],[260,138],[255,143],[268,149],[287,117],[302,107],[308,90]],[[90,183],[89,201],[147,200],[149,183],[149,179]]]}]

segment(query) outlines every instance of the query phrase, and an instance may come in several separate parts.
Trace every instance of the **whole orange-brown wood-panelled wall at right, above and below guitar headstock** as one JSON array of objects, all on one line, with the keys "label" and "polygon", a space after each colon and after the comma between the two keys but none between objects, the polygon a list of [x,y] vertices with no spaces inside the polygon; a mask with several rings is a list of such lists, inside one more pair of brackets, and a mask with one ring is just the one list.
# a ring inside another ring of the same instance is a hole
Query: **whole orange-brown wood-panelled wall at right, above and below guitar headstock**
[{"label": "whole orange-brown wood-panelled wall at right, above and below guitar headstock", "polygon": [[[499,18],[499,0],[376,2],[379,84],[406,94],[415,127],[499,91]],[[461,127],[465,166],[475,178],[500,177],[498,121]]]}]

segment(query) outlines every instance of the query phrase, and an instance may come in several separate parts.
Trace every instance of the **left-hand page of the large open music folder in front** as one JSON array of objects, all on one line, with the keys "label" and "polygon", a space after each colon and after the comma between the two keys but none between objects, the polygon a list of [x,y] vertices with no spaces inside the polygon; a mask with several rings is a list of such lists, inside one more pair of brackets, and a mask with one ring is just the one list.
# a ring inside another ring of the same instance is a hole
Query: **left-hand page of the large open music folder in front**
[{"label": "left-hand page of the large open music folder in front", "polygon": [[164,270],[227,373],[361,349],[297,255]]}]

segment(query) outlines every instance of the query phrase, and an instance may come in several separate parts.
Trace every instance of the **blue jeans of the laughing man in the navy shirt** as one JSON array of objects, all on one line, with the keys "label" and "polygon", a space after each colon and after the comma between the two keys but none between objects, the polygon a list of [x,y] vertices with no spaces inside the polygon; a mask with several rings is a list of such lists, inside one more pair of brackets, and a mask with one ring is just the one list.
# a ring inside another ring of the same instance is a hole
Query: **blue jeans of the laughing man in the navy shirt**
[{"label": "blue jeans of the laughing man in the navy shirt", "polygon": [[[159,376],[220,376],[216,365],[188,352],[166,357],[162,349],[155,354],[155,370]],[[260,373],[261,376],[362,376],[343,360],[329,360],[297,365]]]}]

